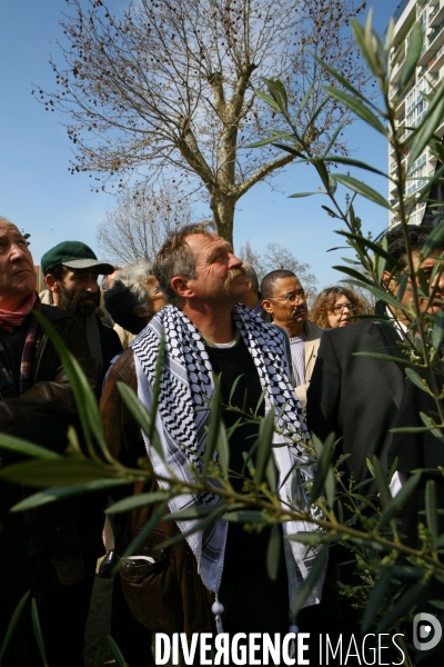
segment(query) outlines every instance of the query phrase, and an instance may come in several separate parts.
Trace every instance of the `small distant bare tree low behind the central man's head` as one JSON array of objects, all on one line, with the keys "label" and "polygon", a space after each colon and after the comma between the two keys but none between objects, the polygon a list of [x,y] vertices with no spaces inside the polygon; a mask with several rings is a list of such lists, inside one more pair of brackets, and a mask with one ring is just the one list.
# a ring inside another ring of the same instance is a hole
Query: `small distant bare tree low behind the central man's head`
[{"label": "small distant bare tree low behind the central man's head", "polygon": [[137,195],[128,190],[113,209],[105,212],[98,228],[100,249],[125,263],[153,261],[167,235],[192,221],[189,200],[183,200],[169,182],[155,190],[148,187]]}]

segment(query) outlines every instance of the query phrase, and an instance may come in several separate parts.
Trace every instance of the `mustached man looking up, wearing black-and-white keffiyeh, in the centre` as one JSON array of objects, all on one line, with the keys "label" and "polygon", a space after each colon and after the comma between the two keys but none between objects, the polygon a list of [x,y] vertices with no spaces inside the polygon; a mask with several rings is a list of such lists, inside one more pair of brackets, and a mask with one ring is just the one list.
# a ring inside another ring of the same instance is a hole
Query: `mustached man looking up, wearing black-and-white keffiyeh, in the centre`
[{"label": "mustached man looking up, wearing black-and-white keffiyeh, in the centre", "polygon": [[[291,384],[285,332],[264,323],[240,303],[248,291],[242,260],[208,223],[190,225],[173,232],[161,248],[153,270],[170,305],[153,317],[110,370],[101,412],[111,454],[134,467],[148,452],[154,470],[164,474],[158,450],[141,435],[117,386],[124,381],[147,407],[152,405],[157,355],[164,337],[157,430],[169,469],[175,477],[190,481],[193,469],[201,468],[208,439],[208,399],[213,395],[214,379],[219,376],[223,406],[238,409],[222,408],[229,432],[231,485],[242,492],[241,476],[249,475],[244,469],[244,452],[252,448],[259,434],[259,424],[251,415],[264,417],[274,406],[276,419],[281,419],[278,415],[283,419],[281,435],[273,436],[273,441],[281,445],[273,447],[280,478],[278,488],[282,484],[282,497],[287,497],[291,491],[286,487],[292,487],[295,475],[289,464],[295,465],[304,458],[305,450],[300,442],[307,432]],[[282,436],[290,426],[295,429],[292,446],[287,446],[289,440]],[[303,498],[304,488],[297,488]],[[169,507],[171,511],[180,511],[184,507],[216,506],[216,502],[208,492],[178,496]],[[131,529],[118,546],[120,551],[131,538],[131,531],[138,532],[144,525],[147,514],[147,508],[132,512]],[[155,551],[155,544],[189,528],[188,522],[159,521],[141,554],[164,558]],[[287,528],[285,525],[283,530]],[[164,628],[167,633],[215,633],[221,624],[225,633],[233,635],[287,633],[290,604],[306,578],[311,563],[306,560],[305,548],[296,552],[292,546],[296,542],[280,537],[281,559],[276,580],[272,581],[265,566],[269,528],[260,532],[245,531],[242,524],[230,522],[229,527],[226,519],[219,516],[168,551],[178,573],[174,601],[170,586],[169,604],[162,605],[162,577],[171,584],[164,569],[163,574],[159,573],[158,584],[155,578],[147,581],[145,588],[144,583],[140,584],[142,596],[140,591],[134,595],[134,577],[131,580],[129,573],[127,578],[123,569],[122,587],[132,613],[148,628]],[[322,583],[323,576],[306,603],[311,606],[309,611],[304,609],[299,617],[302,631],[307,631],[304,628],[309,625],[304,624],[314,618],[315,627],[320,627]]]}]

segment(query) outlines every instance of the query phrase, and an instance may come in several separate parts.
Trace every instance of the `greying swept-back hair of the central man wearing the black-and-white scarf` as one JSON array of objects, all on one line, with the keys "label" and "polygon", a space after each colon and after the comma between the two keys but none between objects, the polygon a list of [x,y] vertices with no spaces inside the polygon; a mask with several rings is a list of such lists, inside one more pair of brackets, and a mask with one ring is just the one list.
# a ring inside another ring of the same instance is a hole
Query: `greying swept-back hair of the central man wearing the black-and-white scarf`
[{"label": "greying swept-back hair of the central man wearing the black-and-white scarf", "polygon": [[179,306],[181,299],[171,287],[171,280],[175,276],[195,278],[195,258],[185,241],[186,237],[195,233],[210,236],[214,233],[214,226],[212,222],[195,222],[173,231],[168,236],[154,261],[154,276],[165,299],[173,306]]}]

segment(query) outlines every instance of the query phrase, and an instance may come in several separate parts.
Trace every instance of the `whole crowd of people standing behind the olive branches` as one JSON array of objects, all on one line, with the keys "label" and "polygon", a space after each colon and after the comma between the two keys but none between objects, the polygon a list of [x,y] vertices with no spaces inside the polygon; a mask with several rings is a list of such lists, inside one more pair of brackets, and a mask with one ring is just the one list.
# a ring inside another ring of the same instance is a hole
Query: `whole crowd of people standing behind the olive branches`
[{"label": "whole crowd of people standing behind the olive branches", "polygon": [[[442,308],[444,276],[435,265],[442,261],[444,247],[422,260],[421,249],[430,231],[411,227],[408,235],[414,260],[422,262],[435,292],[427,307],[436,315]],[[395,275],[394,267],[387,265],[382,286],[396,296],[404,285],[401,275],[406,266],[402,230],[390,230],[386,239],[400,270]],[[411,470],[444,464],[444,457],[428,441],[430,434],[425,441],[418,432],[408,438],[391,434],[398,424],[417,425],[420,410],[433,409],[430,397],[405,380],[398,345],[400,331],[407,330],[402,310],[394,312],[379,302],[375,312],[384,317],[376,322],[359,295],[339,286],[321,291],[309,310],[310,295],[294,272],[276,269],[260,285],[254,268],[235,257],[230,243],[208,223],[189,225],[171,233],[153,263],[115,267],[99,260],[85,243],[64,241],[43,255],[41,270],[47,289],[39,295],[28,241],[16,225],[0,218],[3,434],[63,454],[72,426],[83,446],[73,395],[36,317],[40,312],[94,388],[110,452],[125,466],[137,468],[148,457],[158,476],[163,476],[167,464],[178,479],[192,481],[193,469],[201,466],[205,451],[208,399],[213,395],[215,377],[222,418],[230,432],[231,484],[236,492],[243,490],[244,457],[258,439],[260,420],[240,422],[238,412],[225,407],[229,404],[259,418],[274,409],[278,488],[281,498],[297,497],[305,506],[306,482],[314,475],[313,467],[306,465],[304,447],[311,434],[324,440],[335,432],[335,456],[349,455],[346,470],[354,484],[367,479],[367,458],[376,456],[387,471],[397,457],[392,494],[398,491]],[[404,285],[401,302],[407,303],[411,296]],[[157,432],[162,457],[140,430],[119,391],[123,382],[148,409],[152,407],[161,338],[165,352]],[[390,354],[393,360],[356,355],[363,351]],[[289,434],[291,438],[285,437]],[[1,468],[23,460],[23,455],[3,447],[0,455]],[[443,477],[435,478],[443,507]],[[242,524],[229,525],[221,516],[159,550],[158,545],[189,529],[188,522],[160,516],[134,554],[140,560],[129,559],[115,574],[117,566],[122,565],[120,556],[157,509],[142,505],[131,514],[117,515],[112,525],[104,522],[104,509],[124,496],[159,490],[165,484],[138,482],[134,488],[113,490],[112,498],[94,492],[11,512],[33,490],[1,480],[0,645],[13,609],[31,590],[49,667],[83,665],[84,627],[97,563],[102,556],[101,576],[114,576],[111,635],[130,667],[154,665],[154,633],[339,636],[354,625],[359,633],[356,614],[341,599],[337,587],[341,577],[350,583],[347,577],[353,573],[341,570],[337,556],[330,557],[297,619],[290,618],[292,603],[319,550],[283,538],[297,530],[313,530],[310,524],[282,525],[274,580],[266,570],[271,529],[245,531]],[[412,545],[417,544],[413,518],[423,509],[424,484],[425,479],[403,516]],[[361,492],[373,491],[366,487]],[[169,511],[216,502],[211,492],[190,491],[174,497]],[[317,650],[317,643],[314,645]],[[28,605],[2,665],[42,664],[32,607]],[[311,664],[316,664],[315,657]]]}]

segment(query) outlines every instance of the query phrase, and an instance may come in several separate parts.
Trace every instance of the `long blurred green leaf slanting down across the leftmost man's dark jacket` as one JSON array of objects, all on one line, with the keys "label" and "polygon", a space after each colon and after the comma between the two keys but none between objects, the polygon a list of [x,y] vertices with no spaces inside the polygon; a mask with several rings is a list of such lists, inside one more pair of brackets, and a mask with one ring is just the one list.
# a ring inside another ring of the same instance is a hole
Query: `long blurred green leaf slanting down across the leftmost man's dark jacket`
[{"label": "long blurred green leaf slanting down across the leftmost man's dark jacket", "polygon": [[41,328],[48,334],[51,344],[54,346],[67,374],[72,394],[74,395],[75,405],[79,410],[79,418],[82,425],[83,434],[87,440],[88,450],[90,454],[94,451],[93,442],[98,442],[102,455],[108,461],[112,461],[109,452],[102,419],[100,417],[98,399],[90,387],[89,380],[84,375],[79,361],[68,350],[62,338],[56,329],[49,323],[47,318],[40,312],[32,311],[38,319]]}]

